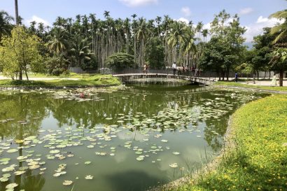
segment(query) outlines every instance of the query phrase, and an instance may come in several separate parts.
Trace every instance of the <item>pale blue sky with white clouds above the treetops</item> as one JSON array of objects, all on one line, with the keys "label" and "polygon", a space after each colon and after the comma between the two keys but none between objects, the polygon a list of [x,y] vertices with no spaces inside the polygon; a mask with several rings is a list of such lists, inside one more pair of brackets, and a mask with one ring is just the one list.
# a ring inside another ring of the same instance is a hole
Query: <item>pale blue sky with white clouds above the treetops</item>
[{"label": "pale blue sky with white clouds above the treetops", "polygon": [[[0,10],[15,15],[14,0],[0,0]],[[138,17],[154,19],[157,16],[169,15],[174,20],[193,23],[202,21],[204,28],[214,15],[225,9],[230,15],[238,14],[241,25],[246,27],[246,43],[253,41],[253,36],[262,34],[263,27],[272,27],[279,22],[269,19],[269,15],[286,9],[285,0],[18,0],[19,15],[24,24],[43,22],[52,25],[57,16],[75,17],[95,13],[104,19],[104,10],[110,11],[113,18]]]}]

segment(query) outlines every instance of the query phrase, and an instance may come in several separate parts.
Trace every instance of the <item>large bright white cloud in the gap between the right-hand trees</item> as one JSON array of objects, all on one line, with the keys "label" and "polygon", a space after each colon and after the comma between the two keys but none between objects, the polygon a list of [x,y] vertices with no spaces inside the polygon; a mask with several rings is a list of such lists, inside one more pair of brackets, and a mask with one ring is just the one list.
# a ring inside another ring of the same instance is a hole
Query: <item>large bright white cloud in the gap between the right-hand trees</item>
[{"label": "large bright white cloud in the gap between the right-hand trees", "polygon": [[262,34],[263,28],[265,27],[274,27],[276,23],[281,23],[283,21],[277,20],[276,18],[269,19],[268,17],[260,16],[257,21],[253,24],[249,24],[246,26],[246,32],[244,34],[244,38],[246,38],[246,42],[250,43],[253,41],[253,36],[257,36]]}]

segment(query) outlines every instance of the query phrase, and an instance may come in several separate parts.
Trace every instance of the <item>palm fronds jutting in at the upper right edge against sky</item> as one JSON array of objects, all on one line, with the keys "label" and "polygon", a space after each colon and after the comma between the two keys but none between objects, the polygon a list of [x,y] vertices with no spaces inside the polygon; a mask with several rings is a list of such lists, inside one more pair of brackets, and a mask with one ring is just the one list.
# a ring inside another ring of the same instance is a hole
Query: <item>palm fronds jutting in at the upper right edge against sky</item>
[{"label": "palm fronds jutting in at the upper right edge against sky", "polygon": [[284,20],[282,24],[277,24],[275,27],[271,29],[271,34],[277,34],[278,36],[274,39],[274,43],[284,42],[287,41],[287,9],[280,10],[276,13],[273,13],[269,17],[277,18],[279,20]]}]

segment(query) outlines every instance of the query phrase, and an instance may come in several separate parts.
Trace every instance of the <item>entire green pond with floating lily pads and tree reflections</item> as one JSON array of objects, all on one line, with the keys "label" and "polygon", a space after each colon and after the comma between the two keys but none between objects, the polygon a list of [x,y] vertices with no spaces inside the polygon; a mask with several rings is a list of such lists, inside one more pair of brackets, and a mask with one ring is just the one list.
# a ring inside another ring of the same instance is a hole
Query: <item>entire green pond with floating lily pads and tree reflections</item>
[{"label": "entire green pond with floating lily pads and tree reflections", "polygon": [[0,190],[174,181],[214,157],[230,115],[259,97],[191,85],[0,92]]}]

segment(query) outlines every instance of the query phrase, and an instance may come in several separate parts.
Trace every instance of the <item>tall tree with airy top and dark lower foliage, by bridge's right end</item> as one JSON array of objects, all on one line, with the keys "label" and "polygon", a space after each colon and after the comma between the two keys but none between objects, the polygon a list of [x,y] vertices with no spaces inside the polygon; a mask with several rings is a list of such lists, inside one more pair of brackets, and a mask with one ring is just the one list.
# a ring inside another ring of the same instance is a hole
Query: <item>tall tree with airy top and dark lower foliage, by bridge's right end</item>
[{"label": "tall tree with airy top and dark lower foliage, by bridge's right end", "polygon": [[240,27],[239,17],[232,17],[232,22],[228,22],[230,15],[221,11],[211,23],[211,40],[204,47],[203,55],[200,59],[200,67],[203,69],[214,69],[225,76],[232,67],[241,64],[242,53],[245,47],[242,45],[245,39],[242,37],[246,29]]}]

